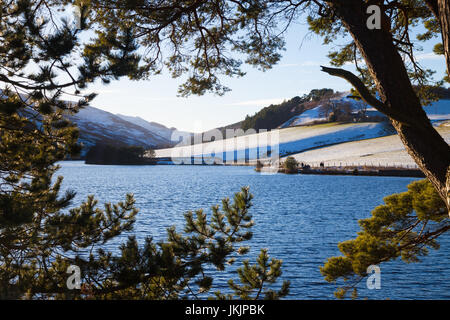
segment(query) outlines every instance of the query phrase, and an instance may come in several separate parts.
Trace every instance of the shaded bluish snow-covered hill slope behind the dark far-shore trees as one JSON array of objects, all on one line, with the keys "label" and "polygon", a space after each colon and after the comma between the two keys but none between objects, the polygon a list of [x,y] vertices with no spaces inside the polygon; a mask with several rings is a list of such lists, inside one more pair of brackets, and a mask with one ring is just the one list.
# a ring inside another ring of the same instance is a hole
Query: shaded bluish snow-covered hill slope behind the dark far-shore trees
[{"label": "shaded bluish snow-covered hill slope behind the dark far-shore trees", "polygon": [[80,129],[80,142],[84,145],[82,155],[96,143],[135,145],[144,148],[172,145],[171,141],[157,133],[94,107],[86,107],[68,118]]}]

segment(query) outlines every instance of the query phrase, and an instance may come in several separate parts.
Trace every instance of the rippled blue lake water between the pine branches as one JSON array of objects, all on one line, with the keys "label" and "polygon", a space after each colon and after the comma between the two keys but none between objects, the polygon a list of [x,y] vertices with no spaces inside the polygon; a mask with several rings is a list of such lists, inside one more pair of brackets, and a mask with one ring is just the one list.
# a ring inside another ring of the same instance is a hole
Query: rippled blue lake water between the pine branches
[{"label": "rippled blue lake water between the pine branches", "polygon": [[[140,209],[133,234],[164,239],[165,229],[181,230],[183,214],[232,198],[242,186],[254,195],[251,213],[255,226],[248,255],[252,261],[260,248],[283,259],[282,279],[291,281],[290,299],[333,299],[335,285],[319,271],[326,258],[339,255],[337,244],[354,238],[358,219],[370,216],[383,197],[406,191],[416,180],[403,177],[262,175],[251,167],[222,166],[94,166],[80,161],[61,163],[63,189],[77,191],[74,205],[93,194],[103,202],[118,202],[134,193]],[[127,235],[108,243],[114,250]],[[450,273],[447,266],[450,235],[440,238],[441,249],[431,251],[420,263],[401,261],[381,265],[381,289],[358,287],[361,298],[449,299]],[[239,265],[237,265],[239,266]],[[214,281],[226,288],[229,278],[221,273]]]}]

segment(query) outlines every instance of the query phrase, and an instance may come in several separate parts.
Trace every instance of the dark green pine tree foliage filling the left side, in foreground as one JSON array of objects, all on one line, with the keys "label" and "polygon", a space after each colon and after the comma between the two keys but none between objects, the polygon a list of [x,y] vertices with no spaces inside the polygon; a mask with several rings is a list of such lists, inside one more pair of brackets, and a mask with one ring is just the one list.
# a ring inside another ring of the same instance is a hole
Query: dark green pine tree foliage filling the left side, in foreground
[{"label": "dark green pine tree foliage filling the left side, in foreground", "polygon": [[[146,75],[131,28],[111,27],[96,43],[86,43],[80,34],[89,27],[87,11],[82,8],[76,24],[57,19],[65,15],[66,3],[0,2],[0,299],[207,294],[214,283],[205,270],[224,271],[237,253],[248,251],[238,246],[251,238],[248,189],[233,203],[225,199],[223,211],[213,207],[210,221],[201,210],[187,213],[185,233],[170,228],[165,242],[147,238],[141,245],[130,237],[114,252],[103,246],[132,230],[138,214],[133,195],[103,207],[89,196],[76,207],[74,191],[60,192],[57,162],[80,151],[78,130],[65,116],[95,97],[81,90],[97,79]],[[63,94],[79,102],[64,102]],[[274,275],[258,274],[255,289],[271,298],[286,295],[287,284],[279,292],[262,285],[280,276],[280,264],[271,262]],[[71,266],[80,268],[80,289],[66,285]]]}]

